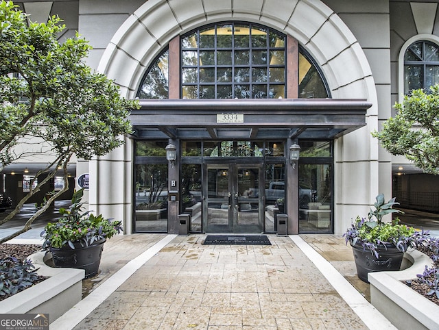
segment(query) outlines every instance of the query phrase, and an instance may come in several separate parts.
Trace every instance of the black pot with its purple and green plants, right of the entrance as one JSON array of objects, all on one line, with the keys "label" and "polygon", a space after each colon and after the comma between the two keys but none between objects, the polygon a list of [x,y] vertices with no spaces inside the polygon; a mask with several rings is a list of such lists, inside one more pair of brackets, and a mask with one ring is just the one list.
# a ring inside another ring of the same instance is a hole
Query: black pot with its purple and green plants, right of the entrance
[{"label": "black pot with its purple and green plants, right of the entrance", "polygon": [[418,231],[399,223],[399,218],[383,222],[386,214],[403,213],[395,210],[399,203],[390,199],[385,203],[384,195],[379,194],[370,209],[368,218],[357,216],[352,226],[346,230],[344,237],[353,249],[355,265],[359,279],[368,283],[368,272],[399,270],[403,255],[409,247],[426,244],[428,231]]}]

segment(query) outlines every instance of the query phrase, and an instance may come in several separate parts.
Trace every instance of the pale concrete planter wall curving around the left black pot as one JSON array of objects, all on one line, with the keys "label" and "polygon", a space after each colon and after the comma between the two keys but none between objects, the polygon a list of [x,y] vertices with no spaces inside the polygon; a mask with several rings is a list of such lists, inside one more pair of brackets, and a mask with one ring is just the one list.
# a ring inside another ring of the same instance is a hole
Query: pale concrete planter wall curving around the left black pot
[{"label": "pale concrete planter wall curving around the left black pot", "polygon": [[82,299],[82,269],[51,268],[45,264],[45,252],[38,252],[29,257],[37,273],[48,276],[26,290],[0,301],[2,314],[49,314],[49,321],[54,322]]}]

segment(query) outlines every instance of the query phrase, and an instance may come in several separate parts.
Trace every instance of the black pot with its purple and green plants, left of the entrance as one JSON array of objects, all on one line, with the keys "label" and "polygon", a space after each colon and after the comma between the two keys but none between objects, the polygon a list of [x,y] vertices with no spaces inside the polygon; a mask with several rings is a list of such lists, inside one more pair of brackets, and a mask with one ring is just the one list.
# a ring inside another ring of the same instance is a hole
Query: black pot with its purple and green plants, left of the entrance
[{"label": "black pot with its purple and green plants, left of the entrance", "polygon": [[60,208],[62,217],[47,223],[41,232],[43,249],[51,252],[57,267],[80,268],[85,277],[93,277],[99,270],[104,242],[121,232],[121,221],[112,221],[91,211],[82,212],[84,188],[73,194],[68,210]]}]

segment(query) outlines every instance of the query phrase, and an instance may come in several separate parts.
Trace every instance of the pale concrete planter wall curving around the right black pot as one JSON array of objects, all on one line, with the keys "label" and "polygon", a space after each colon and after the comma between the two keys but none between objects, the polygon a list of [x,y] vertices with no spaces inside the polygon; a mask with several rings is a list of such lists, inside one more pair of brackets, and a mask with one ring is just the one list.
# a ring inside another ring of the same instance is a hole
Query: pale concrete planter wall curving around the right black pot
[{"label": "pale concrete planter wall curving around the right black pot", "polygon": [[368,274],[371,303],[400,330],[439,329],[439,306],[401,282],[422,274],[431,259],[416,250],[405,257],[413,264],[405,270]]}]

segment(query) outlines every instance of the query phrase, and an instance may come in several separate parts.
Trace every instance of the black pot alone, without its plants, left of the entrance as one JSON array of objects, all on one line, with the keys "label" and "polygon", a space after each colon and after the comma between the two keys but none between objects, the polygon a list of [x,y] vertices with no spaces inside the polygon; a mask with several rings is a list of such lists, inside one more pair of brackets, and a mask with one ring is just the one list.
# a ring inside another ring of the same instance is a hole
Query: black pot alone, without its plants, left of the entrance
[{"label": "black pot alone, without its plants, left of the entrance", "polygon": [[50,251],[56,267],[84,269],[85,278],[88,279],[95,276],[99,270],[105,242],[106,240],[100,240],[84,247],[74,243],[75,249],[63,246],[61,249],[51,248]]}]

